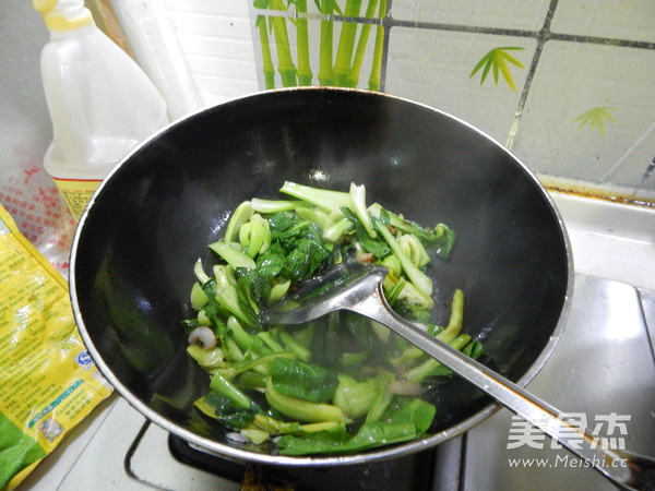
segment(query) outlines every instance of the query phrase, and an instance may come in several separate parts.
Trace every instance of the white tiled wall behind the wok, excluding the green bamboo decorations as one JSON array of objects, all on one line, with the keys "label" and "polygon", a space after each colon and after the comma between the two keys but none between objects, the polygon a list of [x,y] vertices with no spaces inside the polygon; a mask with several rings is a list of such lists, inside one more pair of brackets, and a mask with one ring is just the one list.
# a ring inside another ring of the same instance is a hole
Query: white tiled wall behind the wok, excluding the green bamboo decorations
[{"label": "white tiled wall behind the wok, excluding the green bamboo decorations", "polygon": [[[164,1],[206,105],[263,87],[251,0]],[[386,92],[479,127],[540,173],[655,201],[653,0],[389,1]],[[510,52],[525,65],[509,65],[516,91],[469,77],[502,46],[524,48]],[[604,133],[574,122],[603,106]]]}]

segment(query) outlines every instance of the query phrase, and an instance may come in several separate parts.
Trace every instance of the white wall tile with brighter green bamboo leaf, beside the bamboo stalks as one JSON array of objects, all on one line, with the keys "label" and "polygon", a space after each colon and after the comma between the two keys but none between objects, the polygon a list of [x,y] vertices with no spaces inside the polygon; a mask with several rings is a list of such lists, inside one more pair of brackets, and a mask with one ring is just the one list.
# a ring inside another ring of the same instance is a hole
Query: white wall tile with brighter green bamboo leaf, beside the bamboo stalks
[{"label": "white wall tile with brighter green bamboo leaf, beside the bamboo stalks", "polygon": [[[534,39],[409,27],[393,27],[392,33],[388,92],[456,116],[505,143],[521,93],[502,79],[497,86],[491,73],[483,84],[480,72],[473,77],[469,74],[479,59],[498,46],[525,48],[512,51],[512,56],[529,64],[536,47]],[[510,71],[515,86],[522,87],[527,72],[516,67]]]}]

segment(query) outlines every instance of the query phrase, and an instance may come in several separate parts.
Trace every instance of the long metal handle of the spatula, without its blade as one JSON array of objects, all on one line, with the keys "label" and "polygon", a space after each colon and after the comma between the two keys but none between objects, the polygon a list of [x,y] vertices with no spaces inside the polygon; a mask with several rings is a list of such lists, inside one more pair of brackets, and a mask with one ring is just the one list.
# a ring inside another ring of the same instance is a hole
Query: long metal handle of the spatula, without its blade
[{"label": "long metal handle of the spatula, without its blade", "polygon": [[598,438],[582,430],[580,426],[562,419],[560,417],[563,415],[562,411],[405,321],[391,310],[384,299],[381,285],[378,285],[377,290],[371,295],[359,299],[347,309],[384,324],[422,349],[502,403],[508,409],[557,440],[619,488],[655,490],[653,458],[605,447]]}]

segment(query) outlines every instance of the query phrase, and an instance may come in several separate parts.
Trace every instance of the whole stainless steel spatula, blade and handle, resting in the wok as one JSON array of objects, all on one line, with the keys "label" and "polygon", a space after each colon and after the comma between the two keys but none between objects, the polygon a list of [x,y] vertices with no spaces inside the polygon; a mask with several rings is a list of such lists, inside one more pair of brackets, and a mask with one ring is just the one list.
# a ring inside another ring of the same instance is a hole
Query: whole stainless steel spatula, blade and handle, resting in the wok
[{"label": "whole stainless steel spatula, blade and handle, resting in the wok", "polygon": [[260,319],[267,324],[299,324],[349,310],[380,322],[560,442],[619,488],[655,489],[653,458],[606,448],[599,439],[560,418],[562,411],[397,315],[382,291],[386,273],[378,265],[342,264],[262,312]]}]

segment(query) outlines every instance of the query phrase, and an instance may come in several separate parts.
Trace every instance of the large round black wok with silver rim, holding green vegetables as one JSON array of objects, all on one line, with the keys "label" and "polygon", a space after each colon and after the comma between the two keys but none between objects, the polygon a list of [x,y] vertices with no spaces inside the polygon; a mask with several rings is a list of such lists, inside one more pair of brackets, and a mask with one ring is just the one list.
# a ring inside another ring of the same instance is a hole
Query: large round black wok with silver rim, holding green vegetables
[{"label": "large round black wok with silver rim, holding green vegetables", "polygon": [[[378,93],[296,88],[259,93],[192,115],[119,164],[81,217],[71,299],[90,354],[146,418],[222,455],[263,464],[332,466],[406,455],[479,423],[498,405],[455,380],[433,395],[419,441],[366,453],[286,457],[226,438],[193,400],[206,374],[186,352],[193,264],[211,263],[230,211],[278,197],[284,180],[347,190],[457,232],[437,262],[437,306],[466,295],[465,331],[485,363],[524,386],[561,335],[572,289],[570,244],[536,177],[501,145],[437,109]],[[438,322],[450,310],[438,309]]]}]

